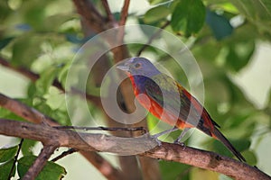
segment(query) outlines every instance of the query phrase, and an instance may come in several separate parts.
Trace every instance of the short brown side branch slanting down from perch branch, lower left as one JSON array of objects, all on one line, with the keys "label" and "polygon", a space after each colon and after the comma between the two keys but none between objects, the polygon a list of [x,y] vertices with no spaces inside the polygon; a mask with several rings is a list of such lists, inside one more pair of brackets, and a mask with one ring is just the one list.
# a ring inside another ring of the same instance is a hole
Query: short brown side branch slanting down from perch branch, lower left
[{"label": "short brown side branch slanting down from perch branch, lower left", "polygon": [[42,148],[42,152],[39,157],[35,159],[33,165],[28,169],[26,174],[23,176],[23,180],[35,179],[37,175],[42,171],[42,168],[46,165],[47,160],[51,157],[57,146],[46,145]]}]

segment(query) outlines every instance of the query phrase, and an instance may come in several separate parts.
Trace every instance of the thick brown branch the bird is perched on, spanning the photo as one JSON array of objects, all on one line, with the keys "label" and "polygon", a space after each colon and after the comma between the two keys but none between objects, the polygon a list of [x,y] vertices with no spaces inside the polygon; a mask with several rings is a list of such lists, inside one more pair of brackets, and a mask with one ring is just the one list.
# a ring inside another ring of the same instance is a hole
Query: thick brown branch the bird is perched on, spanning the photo
[{"label": "thick brown branch the bird is perched on, spanning the photo", "polygon": [[44,127],[41,124],[5,119],[0,119],[0,124],[0,134],[39,140],[48,146],[58,144],[60,147],[77,148],[83,151],[102,151],[121,155],[139,154],[142,157],[153,157],[198,166],[236,179],[269,180],[271,178],[256,167],[213,152],[165,142],[161,146],[157,146],[156,140],[147,135],[121,138],[105,134],[57,130],[50,126]]}]

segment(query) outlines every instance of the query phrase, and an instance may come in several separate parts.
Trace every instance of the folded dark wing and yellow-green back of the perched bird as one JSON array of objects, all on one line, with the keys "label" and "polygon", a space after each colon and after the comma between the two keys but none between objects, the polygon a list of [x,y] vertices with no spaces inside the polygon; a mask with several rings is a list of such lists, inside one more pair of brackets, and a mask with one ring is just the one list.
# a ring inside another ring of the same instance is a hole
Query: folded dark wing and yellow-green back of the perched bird
[{"label": "folded dark wing and yellow-green back of the perched bird", "polygon": [[145,92],[151,100],[178,119],[197,127],[201,120],[201,113],[197,112],[182,89],[182,86],[177,84],[172,77],[164,74],[152,76],[145,82]]}]

